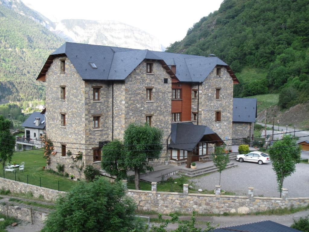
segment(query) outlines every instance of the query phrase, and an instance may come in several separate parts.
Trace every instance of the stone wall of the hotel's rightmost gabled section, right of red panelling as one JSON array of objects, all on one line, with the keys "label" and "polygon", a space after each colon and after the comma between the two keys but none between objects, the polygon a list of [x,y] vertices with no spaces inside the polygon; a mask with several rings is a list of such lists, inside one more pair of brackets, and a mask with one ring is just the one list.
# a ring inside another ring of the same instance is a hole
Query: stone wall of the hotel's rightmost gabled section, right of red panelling
[{"label": "stone wall of the hotel's rightmost gabled section, right of red panelling", "polygon": [[[197,86],[193,88],[197,89]],[[221,88],[220,99],[216,99],[216,88]],[[196,108],[197,105],[193,105],[192,111],[197,111]],[[221,122],[215,122],[216,110],[221,111]],[[214,68],[200,84],[198,117],[199,125],[210,127],[222,140],[232,138],[233,80],[225,67],[221,68],[221,77],[216,76]],[[226,141],[226,145],[231,145],[231,141]]]}]

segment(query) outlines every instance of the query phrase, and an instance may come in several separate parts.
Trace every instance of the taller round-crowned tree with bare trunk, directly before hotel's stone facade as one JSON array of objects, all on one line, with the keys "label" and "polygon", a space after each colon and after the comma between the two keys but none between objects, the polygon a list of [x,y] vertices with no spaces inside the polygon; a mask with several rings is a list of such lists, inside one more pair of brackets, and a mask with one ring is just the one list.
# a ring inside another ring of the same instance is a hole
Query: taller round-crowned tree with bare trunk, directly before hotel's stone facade
[{"label": "taller round-crowned tree with bare trunk, directly before hotel's stone facade", "polygon": [[160,158],[162,131],[156,127],[130,124],[124,134],[125,165],[135,173],[135,189],[140,189],[140,174],[153,170],[150,161]]}]

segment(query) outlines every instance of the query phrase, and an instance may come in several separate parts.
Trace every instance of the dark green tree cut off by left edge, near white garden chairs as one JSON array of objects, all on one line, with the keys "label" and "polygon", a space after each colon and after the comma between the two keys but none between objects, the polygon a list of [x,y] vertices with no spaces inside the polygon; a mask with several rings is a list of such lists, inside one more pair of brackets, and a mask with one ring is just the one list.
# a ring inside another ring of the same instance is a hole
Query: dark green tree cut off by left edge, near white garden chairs
[{"label": "dark green tree cut off by left edge, near white garden chairs", "polygon": [[11,121],[0,115],[0,161],[5,166],[7,160],[11,161],[14,148],[15,137],[10,132]]}]

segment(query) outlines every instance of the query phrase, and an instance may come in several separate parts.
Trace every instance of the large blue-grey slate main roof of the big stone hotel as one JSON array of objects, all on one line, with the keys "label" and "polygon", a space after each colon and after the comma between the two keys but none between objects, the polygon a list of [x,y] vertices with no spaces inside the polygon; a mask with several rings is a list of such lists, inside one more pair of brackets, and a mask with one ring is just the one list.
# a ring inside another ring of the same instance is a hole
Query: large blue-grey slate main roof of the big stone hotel
[{"label": "large blue-grey slate main roof of the big stone hotel", "polygon": [[[66,54],[83,80],[124,80],[144,59],[163,60],[168,66],[176,65],[175,75],[180,82],[203,82],[216,65],[228,66],[218,57],[71,42],[61,45],[51,55],[58,54]],[[95,63],[97,68],[91,68],[90,62]]]}]

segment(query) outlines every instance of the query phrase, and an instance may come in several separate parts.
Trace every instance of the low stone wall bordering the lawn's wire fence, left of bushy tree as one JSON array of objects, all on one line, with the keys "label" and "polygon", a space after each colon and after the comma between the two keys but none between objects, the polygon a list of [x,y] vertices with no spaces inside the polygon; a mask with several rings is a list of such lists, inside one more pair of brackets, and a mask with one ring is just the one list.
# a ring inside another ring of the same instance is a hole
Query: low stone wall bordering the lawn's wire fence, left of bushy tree
[{"label": "low stone wall bordering the lawn's wire fence, left of bushy tree", "polygon": [[32,192],[34,197],[44,196],[45,200],[56,200],[59,194],[64,194],[63,191],[57,191],[50,188],[39,187],[32,184],[27,184],[10,179],[0,178],[0,188],[10,190],[14,193],[28,193]]}]

